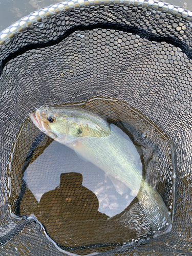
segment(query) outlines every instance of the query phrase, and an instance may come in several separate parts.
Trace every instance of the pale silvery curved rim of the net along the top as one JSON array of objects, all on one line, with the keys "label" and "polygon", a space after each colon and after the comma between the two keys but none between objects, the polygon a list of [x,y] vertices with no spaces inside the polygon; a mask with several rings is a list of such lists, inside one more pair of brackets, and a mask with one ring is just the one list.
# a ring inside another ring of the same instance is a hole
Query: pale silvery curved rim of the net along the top
[{"label": "pale silvery curved rim of the net along the top", "polygon": [[[84,10],[85,8],[96,6],[103,8],[118,6],[123,7],[125,10],[127,7],[146,8],[146,13],[148,12],[148,15],[151,15],[151,11],[153,12],[155,10],[159,13],[165,13],[167,16],[174,15],[178,18],[182,18],[186,23],[190,23],[192,20],[192,11],[157,0],[68,0],[32,12],[4,29],[0,32],[0,49],[3,45],[9,44],[9,42],[13,40],[14,37],[18,36],[18,34],[29,29],[32,25],[40,24],[42,22],[47,23],[54,15],[73,12],[74,10]],[[192,27],[192,24],[188,27]]]}]

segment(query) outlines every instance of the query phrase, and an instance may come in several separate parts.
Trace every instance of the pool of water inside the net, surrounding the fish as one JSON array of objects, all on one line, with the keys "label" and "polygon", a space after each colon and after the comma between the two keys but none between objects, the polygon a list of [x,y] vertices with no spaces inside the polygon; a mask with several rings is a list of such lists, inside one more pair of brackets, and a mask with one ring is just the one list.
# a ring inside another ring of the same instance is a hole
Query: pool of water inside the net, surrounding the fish
[{"label": "pool of water inside the net, surrounding the fish", "polygon": [[158,193],[153,192],[149,200],[141,184],[137,197],[131,189],[119,194],[102,169],[42,134],[27,118],[8,170],[14,214],[35,215],[60,248],[81,255],[164,232],[171,224],[174,196],[173,149],[168,138],[126,102],[100,97],[76,105],[101,115],[136,146],[140,173]]}]

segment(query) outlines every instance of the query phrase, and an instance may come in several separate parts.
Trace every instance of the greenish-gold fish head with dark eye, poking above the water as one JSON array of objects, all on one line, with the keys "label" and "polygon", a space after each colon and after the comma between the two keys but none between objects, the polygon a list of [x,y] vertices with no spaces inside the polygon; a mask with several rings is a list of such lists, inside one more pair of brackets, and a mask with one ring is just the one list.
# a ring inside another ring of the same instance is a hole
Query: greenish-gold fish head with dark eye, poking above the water
[{"label": "greenish-gold fish head with dark eye, poking above the water", "polygon": [[38,109],[30,118],[41,132],[62,144],[82,137],[106,137],[111,133],[106,121],[77,109]]}]

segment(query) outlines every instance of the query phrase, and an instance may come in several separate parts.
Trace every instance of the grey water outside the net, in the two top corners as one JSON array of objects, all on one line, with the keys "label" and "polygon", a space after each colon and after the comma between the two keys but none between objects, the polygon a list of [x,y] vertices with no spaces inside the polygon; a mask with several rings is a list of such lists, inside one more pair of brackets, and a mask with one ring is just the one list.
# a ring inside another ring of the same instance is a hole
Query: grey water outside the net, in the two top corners
[{"label": "grey water outside the net, in the two top corners", "polygon": [[[57,4],[59,0],[2,0],[0,1],[0,31],[6,29],[20,18],[38,11],[40,8],[51,4]],[[168,3],[181,6],[184,9],[192,10],[190,0],[170,0]]]}]

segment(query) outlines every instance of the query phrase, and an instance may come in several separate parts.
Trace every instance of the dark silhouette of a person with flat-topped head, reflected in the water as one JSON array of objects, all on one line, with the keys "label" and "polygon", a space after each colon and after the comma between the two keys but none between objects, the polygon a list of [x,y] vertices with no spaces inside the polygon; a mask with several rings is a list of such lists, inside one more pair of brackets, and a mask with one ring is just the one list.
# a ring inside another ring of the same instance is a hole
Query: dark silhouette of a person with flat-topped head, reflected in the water
[{"label": "dark silhouette of a person with flat-topped head, reflected in the water", "polygon": [[65,173],[59,187],[42,195],[35,215],[54,241],[75,247],[99,242],[95,231],[109,217],[98,208],[96,195],[82,186],[82,175]]}]

